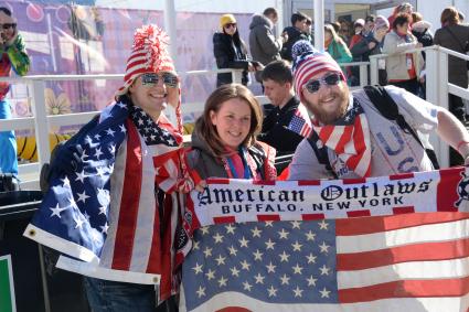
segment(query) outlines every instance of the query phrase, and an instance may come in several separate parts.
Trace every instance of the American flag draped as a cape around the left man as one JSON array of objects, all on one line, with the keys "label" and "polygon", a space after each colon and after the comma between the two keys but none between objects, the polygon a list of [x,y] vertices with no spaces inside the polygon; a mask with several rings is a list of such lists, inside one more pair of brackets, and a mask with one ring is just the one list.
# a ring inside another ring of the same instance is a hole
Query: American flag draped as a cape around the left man
[{"label": "American flag draped as a cape around the left man", "polygon": [[[178,287],[174,259],[189,240],[175,192],[182,137],[160,120],[118,103],[86,125],[52,163],[50,190],[24,235],[72,257],[62,256],[60,268],[159,284],[163,300]],[[162,205],[157,190],[169,193]]]}]

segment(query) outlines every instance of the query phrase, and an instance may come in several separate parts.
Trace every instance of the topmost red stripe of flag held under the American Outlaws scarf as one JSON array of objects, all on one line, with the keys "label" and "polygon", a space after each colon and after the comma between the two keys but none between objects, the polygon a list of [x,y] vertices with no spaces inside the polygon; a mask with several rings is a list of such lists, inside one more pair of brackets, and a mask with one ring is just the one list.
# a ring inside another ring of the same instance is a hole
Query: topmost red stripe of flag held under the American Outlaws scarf
[{"label": "topmost red stripe of flag held under the American Outlaws scarf", "polygon": [[337,219],[335,234],[352,236],[469,218],[468,213],[418,213],[385,217]]}]

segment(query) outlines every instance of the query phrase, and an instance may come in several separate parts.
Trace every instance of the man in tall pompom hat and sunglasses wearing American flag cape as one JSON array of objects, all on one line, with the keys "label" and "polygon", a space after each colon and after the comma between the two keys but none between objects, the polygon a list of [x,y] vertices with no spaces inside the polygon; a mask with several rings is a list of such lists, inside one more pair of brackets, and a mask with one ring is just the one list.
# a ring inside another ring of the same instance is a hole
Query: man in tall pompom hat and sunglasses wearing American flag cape
[{"label": "man in tall pompom hat and sunglasses wearing American flag cape", "polygon": [[[24,235],[85,276],[93,311],[163,311],[186,254],[180,86],[156,25],[138,29],[116,100],[56,153],[50,190]],[[163,109],[175,108],[174,128]],[[159,303],[163,302],[164,304]]]}]

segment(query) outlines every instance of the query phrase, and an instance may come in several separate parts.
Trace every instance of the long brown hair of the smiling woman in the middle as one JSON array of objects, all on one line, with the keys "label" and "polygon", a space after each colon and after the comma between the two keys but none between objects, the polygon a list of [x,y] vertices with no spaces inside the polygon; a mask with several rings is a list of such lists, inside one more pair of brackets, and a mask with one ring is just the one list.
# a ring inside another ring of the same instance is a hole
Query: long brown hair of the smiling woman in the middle
[{"label": "long brown hair of the smiling woman in the middle", "polygon": [[211,111],[220,111],[223,103],[237,98],[247,103],[251,108],[251,127],[246,139],[242,146],[248,148],[256,142],[256,137],[260,132],[263,125],[263,110],[253,93],[241,84],[222,85],[215,89],[206,99],[201,117],[195,122],[195,133],[201,141],[204,141],[212,154],[221,159],[226,155],[226,147],[218,136],[216,127],[212,123]]}]

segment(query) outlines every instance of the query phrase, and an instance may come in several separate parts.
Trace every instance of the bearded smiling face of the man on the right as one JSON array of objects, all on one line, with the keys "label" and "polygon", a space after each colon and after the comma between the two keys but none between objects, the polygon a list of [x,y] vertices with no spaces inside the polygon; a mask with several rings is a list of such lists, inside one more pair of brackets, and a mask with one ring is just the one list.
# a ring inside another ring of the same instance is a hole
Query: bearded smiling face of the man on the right
[{"label": "bearded smiling face of the man on the right", "polygon": [[[320,79],[333,72],[320,73],[311,79]],[[305,105],[313,114],[315,118],[324,125],[333,123],[341,118],[349,105],[349,88],[347,83],[341,80],[337,85],[321,84],[319,90],[310,93],[303,86],[301,88]]]}]

